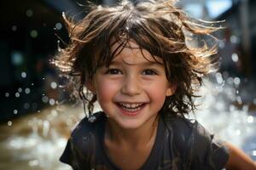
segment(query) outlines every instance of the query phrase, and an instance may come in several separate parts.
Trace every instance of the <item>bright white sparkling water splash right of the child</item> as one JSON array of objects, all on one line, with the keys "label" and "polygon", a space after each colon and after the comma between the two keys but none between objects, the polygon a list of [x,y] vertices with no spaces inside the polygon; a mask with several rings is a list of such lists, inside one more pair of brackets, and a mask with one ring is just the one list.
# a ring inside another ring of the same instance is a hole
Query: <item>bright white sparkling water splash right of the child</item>
[{"label": "bright white sparkling water splash right of the child", "polygon": [[240,96],[237,93],[239,92],[237,82],[234,81],[233,85],[226,85],[223,82],[216,86],[212,82],[205,81],[205,86],[200,92],[203,97],[196,101],[202,105],[195,111],[195,116],[191,115],[191,117],[196,118],[218,138],[230,141],[244,150],[256,161],[255,111],[253,113],[249,110],[248,104],[242,103],[245,96],[255,94]]}]

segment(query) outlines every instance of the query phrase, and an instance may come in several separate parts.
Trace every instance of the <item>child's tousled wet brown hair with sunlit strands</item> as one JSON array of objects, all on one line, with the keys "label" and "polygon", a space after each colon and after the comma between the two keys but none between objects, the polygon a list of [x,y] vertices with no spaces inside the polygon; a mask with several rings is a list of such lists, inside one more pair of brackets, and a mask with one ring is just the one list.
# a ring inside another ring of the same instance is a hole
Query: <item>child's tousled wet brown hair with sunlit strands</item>
[{"label": "child's tousled wet brown hair with sunlit strands", "polygon": [[[111,7],[90,5],[89,14],[77,22],[64,17],[70,43],[54,62],[70,76],[70,83],[76,87],[74,92],[87,105],[89,115],[96,94],[90,93],[86,82],[100,66],[108,67],[131,40],[154,59],[161,58],[167,80],[177,86],[175,94],[166,97],[160,112],[185,116],[195,110],[195,91],[201,86],[202,77],[216,67],[216,45],[207,45],[206,40],[218,27],[192,19],[175,5],[173,0],[122,1]],[[194,42],[201,37],[203,40]],[[111,49],[115,42],[119,46]]]}]

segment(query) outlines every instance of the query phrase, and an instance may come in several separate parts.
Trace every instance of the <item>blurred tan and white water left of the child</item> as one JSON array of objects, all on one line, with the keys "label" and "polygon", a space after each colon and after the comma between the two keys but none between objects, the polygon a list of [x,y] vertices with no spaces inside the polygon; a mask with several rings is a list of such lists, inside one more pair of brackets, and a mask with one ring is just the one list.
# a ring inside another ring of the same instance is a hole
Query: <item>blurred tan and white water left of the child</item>
[{"label": "blurred tan and white water left of the child", "polygon": [[[0,142],[0,150],[8,153],[0,158],[9,162],[3,162],[1,166],[9,169],[70,170],[58,159],[67,144],[70,130],[82,115],[78,108],[59,105],[41,111],[40,115],[9,121],[8,128],[4,130],[8,138]],[[0,126],[0,130],[2,128]]]}]

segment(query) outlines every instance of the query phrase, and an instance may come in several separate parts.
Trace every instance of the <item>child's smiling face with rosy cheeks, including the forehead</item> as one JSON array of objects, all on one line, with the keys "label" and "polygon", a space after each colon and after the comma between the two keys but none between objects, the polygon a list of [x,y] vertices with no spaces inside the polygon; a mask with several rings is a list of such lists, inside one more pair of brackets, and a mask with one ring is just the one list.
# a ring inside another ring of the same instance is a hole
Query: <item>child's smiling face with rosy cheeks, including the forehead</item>
[{"label": "child's smiling face with rosy cheeks, including the forehead", "polygon": [[175,91],[166,79],[164,65],[155,62],[147,50],[142,54],[137,43],[129,44],[131,48],[124,48],[109,68],[96,71],[88,87],[96,93],[109,121],[127,129],[154,121],[166,96]]}]

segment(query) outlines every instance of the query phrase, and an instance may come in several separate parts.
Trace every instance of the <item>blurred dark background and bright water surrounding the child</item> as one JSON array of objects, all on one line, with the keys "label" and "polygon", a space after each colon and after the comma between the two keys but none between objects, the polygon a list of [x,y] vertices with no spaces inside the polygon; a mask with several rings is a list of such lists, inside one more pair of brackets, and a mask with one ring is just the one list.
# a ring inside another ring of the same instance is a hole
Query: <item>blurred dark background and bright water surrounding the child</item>
[{"label": "blurred dark background and bright water surrounding the child", "polygon": [[[93,1],[114,4],[115,0]],[[68,42],[62,13],[80,20],[79,0],[1,4],[0,169],[70,169],[58,161],[81,105],[62,88],[49,60]],[[225,20],[217,32],[220,69],[206,79],[196,118],[256,160],[256,1],[180,0],[201,20]]]}]

